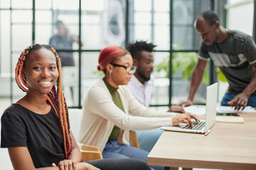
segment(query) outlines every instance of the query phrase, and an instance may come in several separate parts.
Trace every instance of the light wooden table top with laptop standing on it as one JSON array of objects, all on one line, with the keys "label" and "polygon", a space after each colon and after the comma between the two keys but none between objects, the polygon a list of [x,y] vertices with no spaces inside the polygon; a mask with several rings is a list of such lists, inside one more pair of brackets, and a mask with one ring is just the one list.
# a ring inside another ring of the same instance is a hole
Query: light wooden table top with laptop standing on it
[{"label": "light wooden table top with laptop standing on it", "polygon": [[206,169],[256,169],[256,113],[245,123],[215,123],[208,136],[164,131],[147,164]]}]

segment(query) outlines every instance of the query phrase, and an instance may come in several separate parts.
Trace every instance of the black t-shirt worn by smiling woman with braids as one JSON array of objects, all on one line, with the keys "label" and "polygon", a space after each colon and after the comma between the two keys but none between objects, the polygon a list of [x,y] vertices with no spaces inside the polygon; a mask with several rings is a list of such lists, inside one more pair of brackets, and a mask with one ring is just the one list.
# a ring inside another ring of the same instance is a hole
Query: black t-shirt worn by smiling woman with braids
[{"label": "black t-shirt worn by smiling woman with braids", "polygon": [[1,117],[1,147],[28,147],[36,168],[65,159],[60,120],[53,108],[46,115],[18,104],[6,108]]}]

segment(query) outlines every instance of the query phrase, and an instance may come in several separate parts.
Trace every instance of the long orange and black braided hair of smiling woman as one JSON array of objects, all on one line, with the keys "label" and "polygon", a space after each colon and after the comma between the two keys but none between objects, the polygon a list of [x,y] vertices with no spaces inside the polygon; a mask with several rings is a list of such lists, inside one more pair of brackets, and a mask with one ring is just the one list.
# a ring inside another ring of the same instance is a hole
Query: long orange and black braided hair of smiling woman
[{"label": "long orange and black braided hair of smiling woman", "polygon": [[70,123],[68,119],[68,107],[65,101],[65,96],[63,94],[63,86],[62,86],[62,70],[60,64],[60,57],[58,56],[57,52],[50,47],[50,45],[38,45],[33,44],[27,47],[23,52],[21,52],[21,56],[18,58],[18,62],[16,64],[15,69],[15,79],[18,87],[22,90],[27,92],[28,91],[28,84],[26,83],[26,79],[22,76],[22,69],[26,64],[26,59],[28,58],[29,54],[33,51],[40,50],[41,48],[45,48],[46,50],[50,50],[56,57],[57,68],[59,72],[59,77],[57,79],[57,90],[55,85],[48,93],[46,100],[50,103],[55,111],[56,115],[60,120],[60,125],[63,131],[63,140],[64,140],[64,149],[65,149],[65,158],[68,158],[68,154],[73,149],[72,140],[70,137]]}]

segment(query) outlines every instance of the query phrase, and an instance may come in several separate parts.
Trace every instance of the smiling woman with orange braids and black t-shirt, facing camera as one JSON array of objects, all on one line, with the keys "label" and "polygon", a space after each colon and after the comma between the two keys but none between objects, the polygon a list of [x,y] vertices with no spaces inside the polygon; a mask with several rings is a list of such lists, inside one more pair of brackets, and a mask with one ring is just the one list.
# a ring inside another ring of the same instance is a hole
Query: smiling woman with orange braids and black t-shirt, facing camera
[{"label": "smiling woman with orange braids and black t-shirt, facing camera", "polygon": [[8,147],[14,169],[149,169],[137,159],[81,162],[70,131],[60,58],[52,47],[26,48],[18,58],[15,78],[26,96],[1,117],[1,147]]}]

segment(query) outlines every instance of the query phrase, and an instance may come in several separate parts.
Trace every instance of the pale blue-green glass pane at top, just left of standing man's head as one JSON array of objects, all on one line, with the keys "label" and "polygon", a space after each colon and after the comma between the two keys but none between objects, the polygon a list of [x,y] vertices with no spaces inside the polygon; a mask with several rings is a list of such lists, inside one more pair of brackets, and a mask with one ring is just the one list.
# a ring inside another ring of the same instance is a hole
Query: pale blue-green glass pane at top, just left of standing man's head
[{"label": "pale blue-green glass pane at top, just left of standing man's head", "polygon": [[191,0],[175,0],[173,4],[174,24],[193,24],[194,6]]}]

